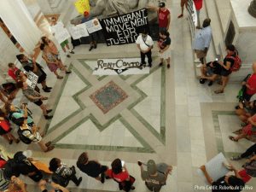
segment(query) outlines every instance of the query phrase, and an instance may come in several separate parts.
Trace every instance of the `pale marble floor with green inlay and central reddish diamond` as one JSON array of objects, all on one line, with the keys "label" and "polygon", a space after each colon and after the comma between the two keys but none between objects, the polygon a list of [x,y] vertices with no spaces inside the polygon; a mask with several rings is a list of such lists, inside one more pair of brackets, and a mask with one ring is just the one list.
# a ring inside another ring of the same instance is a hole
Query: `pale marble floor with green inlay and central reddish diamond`
[{"label": "pale marble floor with green inlay and central reddish diamond", "polygon": [[[54,86],[51,93],[44,94],[49,96],[45,103],[53,109],[54,118],[46,121],[36,106],[30,103],[29,108],[46,132],[44,140],[53,141],[55,149],[44,154],[36,145],[27,147],[20,143],[14,148],[16,144],[9,146],[2,138],[1,148],[10,156],[28,148],[35,158],[47,164],[50,158],[58,157],[70,166],[76,164],[84,151],[91,159],[108,166],[120,158],[137,178],[135,192],[148,191],[140,177],[137,160],[153,159],[173,166],[172,175],[161,191],[203,191],[194,189],[195,185],[205,184],[196,172],[199,166],[219,152],[227,158],[240,154],[252,143],[247,140],[232,143],[228,139],[239,129],[234,106],[240,84],[230,82],[224,94],[215,95],[213,91],[218,84],[208,87],[196,79],[189,23],[186,17],[177,20],[179,3],[179,0],[167,3],[172,11],[170,69],[158,67],[159,58],[154,48],[154,65],[148,74],[92,75],[91,63],[99,55],[116,58],[119,53],[119,57],[138,57],[134,44],[115,47],[99,44],[91,52],[88,45],[80,45],[74,49],[75,55],[65,58],[65,64],[73,73],[62,80],[56,80],[42,61],[49,74],[48,84]],[[203,10],[201,20],[205,15]],[[213,52],[211,48],[208,61],[215,58]],[[112,96],[106,96],[106,92]],[[15,104],[23,101],[26,100],[19,93]],[[239,168],[243,162],[234,164]],[[78,189],[74,189],[71,182],[68,188],[72,191],[119,191],[113,181],[102,184],[82,172],[78,171],[78,175],[83,177],[83,182]],[[26,183],[29,191],[38,191],[32,180],[26,178]],[[247,185],[256,189],[254,179]]]}]

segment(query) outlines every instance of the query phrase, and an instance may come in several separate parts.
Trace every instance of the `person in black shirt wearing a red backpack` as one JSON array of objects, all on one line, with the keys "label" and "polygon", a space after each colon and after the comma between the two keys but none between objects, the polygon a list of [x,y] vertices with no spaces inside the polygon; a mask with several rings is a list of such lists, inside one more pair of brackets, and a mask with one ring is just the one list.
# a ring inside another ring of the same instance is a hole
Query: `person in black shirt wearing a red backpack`
[{"label": "person in black shirt wearing a red backpack", "polygon": [[222,67],[221,68],[221,79],[222,79],[222,86],[219,90],[215,90],[214,93],[219,94],[224,92],[224,88],[229,82],[230,74],[232,73],[231,67],[233,67],[236,58],[236,48],[233,44],[227,46],[227,53],[228,55],[225,56],[224,61],[218,61],[218,64]]}]

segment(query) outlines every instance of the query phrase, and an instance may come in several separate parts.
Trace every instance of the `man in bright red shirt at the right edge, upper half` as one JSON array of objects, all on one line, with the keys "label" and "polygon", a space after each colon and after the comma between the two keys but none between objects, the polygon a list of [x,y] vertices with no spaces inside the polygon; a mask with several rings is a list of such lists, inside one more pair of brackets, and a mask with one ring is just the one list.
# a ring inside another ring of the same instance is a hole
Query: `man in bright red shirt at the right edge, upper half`
[{"label": "man in bright red shirt at the right edge, upper half", "polygon": [[253,74],[247,79],[247,81],[243,81],[242,85],[246,85],[247,90],[243,93],[243,98],[249,102],[251,97],[256,93],[256,61],[253,63]]}]

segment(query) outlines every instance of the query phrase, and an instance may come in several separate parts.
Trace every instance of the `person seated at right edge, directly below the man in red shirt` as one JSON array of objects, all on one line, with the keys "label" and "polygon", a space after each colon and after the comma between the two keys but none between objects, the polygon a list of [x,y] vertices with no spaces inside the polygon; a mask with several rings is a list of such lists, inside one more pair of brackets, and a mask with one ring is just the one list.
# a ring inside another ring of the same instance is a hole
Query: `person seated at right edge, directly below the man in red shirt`
[{"label": "person seated at right edge, directly below the man in red shirt", "polygon": [[241,124],[241,126],[247,125],[248,118],[252,117],[255,113],[256,100],[253,102],[247,102],[244,100],[243,102],[240,102],[238,108],[236,108],[236,114],[238,115],[238,118],[241,119],[241,121],[244,123]]}]

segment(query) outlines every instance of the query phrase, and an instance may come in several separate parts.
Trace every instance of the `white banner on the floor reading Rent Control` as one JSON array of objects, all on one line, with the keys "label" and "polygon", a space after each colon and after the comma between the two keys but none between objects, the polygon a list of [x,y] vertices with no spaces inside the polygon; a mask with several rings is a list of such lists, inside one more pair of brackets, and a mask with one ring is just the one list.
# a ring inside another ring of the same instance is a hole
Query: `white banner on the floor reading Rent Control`
[{"label": "white banner on the floor reading Rent Control", "polygon": [[140,58],[98,59],[90,63],[94,75],[148,74],[149,67],[140,65]]}]

